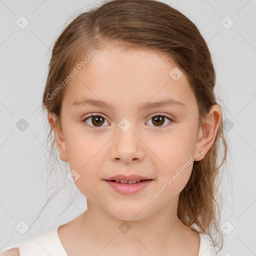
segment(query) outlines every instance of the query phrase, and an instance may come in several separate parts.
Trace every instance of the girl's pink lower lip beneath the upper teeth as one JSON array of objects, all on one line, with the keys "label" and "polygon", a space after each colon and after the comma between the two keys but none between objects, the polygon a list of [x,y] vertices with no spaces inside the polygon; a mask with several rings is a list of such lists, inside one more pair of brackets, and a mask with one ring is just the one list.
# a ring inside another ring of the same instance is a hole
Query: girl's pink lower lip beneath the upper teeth
[{"label": "girl's pink lower lip beneath the upper teeth", "polygon": [[138,183],[129,184],[129,183],[118,183],[115,181],[110,181],[104,179],[104,181],[109,184],[115,191],[121,193],[121,194],[134,194],[144,187],[146,187],[152,179],[146,179],[144,181],[140,181]]}]

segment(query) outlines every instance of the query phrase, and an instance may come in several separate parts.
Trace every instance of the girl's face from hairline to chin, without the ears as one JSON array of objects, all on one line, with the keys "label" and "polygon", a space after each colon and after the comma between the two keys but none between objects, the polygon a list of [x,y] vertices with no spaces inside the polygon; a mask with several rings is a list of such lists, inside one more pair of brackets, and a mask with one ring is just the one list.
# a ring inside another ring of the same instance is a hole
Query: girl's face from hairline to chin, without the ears
[{"label": "girl's face from hairline to chin, without the ears", "polygon": [[[106,47],[65,92],[60,158],[69,162],[75,185],[87,200],[120,219],[145,218],[177,200],[193,158],[200,158],[196,100],[184,73],[170,72],[174,67],[150,51]],[[108,106],[82,104],[86,99]],[[171,99],[180,103],[146,105]],[[105,180],[117,174],[149,181]],[[110,182],[124,190],[117,191]]]}]

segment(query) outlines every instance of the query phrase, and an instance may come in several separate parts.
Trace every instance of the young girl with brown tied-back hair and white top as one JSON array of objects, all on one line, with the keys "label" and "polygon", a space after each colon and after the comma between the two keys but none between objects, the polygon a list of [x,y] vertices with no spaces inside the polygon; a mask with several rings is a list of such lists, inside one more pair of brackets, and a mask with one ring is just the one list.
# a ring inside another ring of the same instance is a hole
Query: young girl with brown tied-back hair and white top
[{"label": "young girl with brown tied-back hair and white top", "polygon": [[169,5],[78,15],[54,44],[43,106],[87,209],[2,255],[223,255],[214,85],[203,37]]}]

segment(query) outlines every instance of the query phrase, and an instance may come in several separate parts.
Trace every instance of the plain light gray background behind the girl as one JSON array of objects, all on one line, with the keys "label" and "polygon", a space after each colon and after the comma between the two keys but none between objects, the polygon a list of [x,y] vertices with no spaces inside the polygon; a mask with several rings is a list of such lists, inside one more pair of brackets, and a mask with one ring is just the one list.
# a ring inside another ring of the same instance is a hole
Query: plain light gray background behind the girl
[{"label": "plain light gray background behind the girl", "polygon": [[[184,13],[203,35],[216,69],[216,93],[227,109],[223,109],[223,119],[230,156],[221,190],[226,198],[223,251],[255,255],[256,1],[163,2]],[[53,42],[78,13],[100,3],[0,0],[0,250],[68,222],[86,209],[85,197],[67,178],[53,188],[51,179],[47,186],[47,119],[40,106]],[[15,23],[21,15],[29,21],[24,29]],[[231,27],[227,15],[234,21]],[[28,123],[23,131],[16,125],[24,122],[21,118]],[[68,165],[62,162],[60,166],[58,175],[65,177]],[[15,227],[20,221],[30,226],[55,189],[39,221],[21,234]],[[66,209],[72,196],[74,203]]]}]

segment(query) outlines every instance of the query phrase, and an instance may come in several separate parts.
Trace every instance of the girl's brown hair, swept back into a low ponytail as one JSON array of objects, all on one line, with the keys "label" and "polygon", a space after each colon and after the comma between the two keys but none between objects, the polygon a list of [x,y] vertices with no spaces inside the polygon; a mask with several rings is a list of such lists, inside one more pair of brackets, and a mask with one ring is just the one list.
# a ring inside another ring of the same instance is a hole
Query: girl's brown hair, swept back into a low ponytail
[{"label": "girl's brown hair, swept back into a low ponytail", "polygon": [[[215,71],[211,55],[192,21],[163,2],[111,0],[79,14],[63,29],[54,43],[42,102],[43,109],[46,108],[48,113],[52,112],[57,116],[60,126],[61,102],[68,85],[61,86],[56,91],[57,86],[61,83],[63,85],[66,76],[85,56],[90,58],[93,56],[91,52],[107,45],[130,50],[152,50],[173,60],[185,73],[195,95],[200,124],[210,107],[217,104],[213,90]],[[52,128],[47,139],[51,132]],[[54,141],[53,137],[52,150]],[[214,246],[219,241],[212,235],[218,234],[221,238],[220,249],[223,245],[223,234],[219,230],[217,178],[226,154],[227,145],[221,120],[213,145],[202,160],[193,164],[191,176],[180,192],[177,209],[177,217],[183,224],[198,233],[208,234]]]}]

